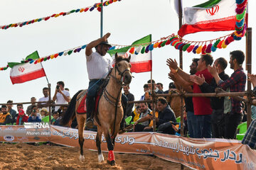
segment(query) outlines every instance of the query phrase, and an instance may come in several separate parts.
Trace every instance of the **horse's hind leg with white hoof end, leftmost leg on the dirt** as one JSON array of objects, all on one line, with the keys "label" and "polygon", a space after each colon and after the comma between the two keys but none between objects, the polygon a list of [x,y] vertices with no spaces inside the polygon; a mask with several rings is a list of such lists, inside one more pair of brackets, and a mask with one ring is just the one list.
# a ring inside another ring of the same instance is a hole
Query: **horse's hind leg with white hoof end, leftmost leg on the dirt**
[{"label": "horse's hind leg with white hoof end, leftmost leg on the dirt", "polygon": [[85,141],[83,137],[83,130],[85,129],[85,118],[82,115],[77,115],[78,120],[78,135],[79,135],[79,145],[80,145],[80,161],[85,161],[85,157],[83,155],[83,143]]}]

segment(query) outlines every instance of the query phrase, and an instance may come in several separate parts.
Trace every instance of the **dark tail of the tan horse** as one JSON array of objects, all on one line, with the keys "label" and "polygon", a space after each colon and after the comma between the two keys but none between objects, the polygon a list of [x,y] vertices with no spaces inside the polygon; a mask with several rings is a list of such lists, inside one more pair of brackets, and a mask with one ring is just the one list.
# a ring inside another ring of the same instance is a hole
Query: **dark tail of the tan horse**
[{"label": "dark tail of the tan horse", "polygon": [[67,125],[69,120],[73,120],[75,118],[75,104],[77,101],[78,94],[80,94],[82,90],[78,91],[73,98],[70,101],[70,104],[68,106],[68,110],[64,113],[63,118],[62,118],[62,125]]}]

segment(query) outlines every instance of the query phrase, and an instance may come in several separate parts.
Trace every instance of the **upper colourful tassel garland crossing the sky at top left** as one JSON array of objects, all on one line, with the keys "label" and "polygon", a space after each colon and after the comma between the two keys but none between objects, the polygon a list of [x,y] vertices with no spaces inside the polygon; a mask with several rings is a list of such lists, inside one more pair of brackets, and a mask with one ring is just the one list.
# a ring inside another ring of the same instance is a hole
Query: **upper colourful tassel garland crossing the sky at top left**
[{"label": "upper colourful tassel garland crossing the sky at top left", "polygon": [[15,28],[15,27],[18,27],[18,26],[23,27],[23,26],[27,26],[31,23],[37,23],[37,22],[40,22],[40,21],[48,21],[50,18],[57,18],[58,16],[68,16],[71,13],[78,13],[78,12],[82,13],[82,12],[87,12],[87,11],[93,11],[95,8],[97,8],[97,11],[100,12],[102,10],[102,6],[108,6],[108,5],[110,5],[110,4],[112,4],[113,2],[116,2],[116,1],[122,1],[122,0],[108,0],[108,1],[105,1],[105,2],[101,2],[101,3],[96,3],[93,6],[87,6],[85,8],[73,9],[73,10],[68,11],[68,12],[54,13],[51,16],[46,16],[46,17],[43,17],[43,18],[36,18],[36,19],[31,20],[31,21],[23,21],[23,22],[19,22],[19,23],[10,23],[8,25],[0,26],[0,28],[2,30],[6,30],[8,28]]}]

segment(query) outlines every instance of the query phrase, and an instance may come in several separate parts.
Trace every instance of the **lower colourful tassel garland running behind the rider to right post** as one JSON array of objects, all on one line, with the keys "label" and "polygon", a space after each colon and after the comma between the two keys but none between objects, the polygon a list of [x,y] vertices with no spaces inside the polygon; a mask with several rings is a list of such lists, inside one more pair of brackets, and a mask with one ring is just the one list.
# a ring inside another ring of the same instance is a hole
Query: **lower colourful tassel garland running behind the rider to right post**
[{"label": "lower colourful tassel garland running behind the rider to right post", "polygon": [[[110,0],[113,1],[114,0]],[[117,1],[117,0],[115,0]],[[118,0],[121,1],[121,0]],[[106,1],[105,1],[106,2]],[[247,25],[245,22],[246,16],[246,6],[247,0],[236,0],[237,8],[235,9],[236,15],[236,23],[235,23],[235,32],[230,33],[228,35],[222,36],[220,38],[216,38],[213,40],[206,40],[206,41],[190,41],[181,38],[179,35],[169,35],[167,37],[161,38],[160,40],[146,42],[139,45],[114,45],[110,47],[110,50],[119,49],[121,47],[128,47],[131,46],[129,49],[130,54],[138,55],[139,53],[144,54],[145,52],[149,52],[154,50],[154,48],[161,48],[166,45],[171,45],[175,47],[176,50],[182,50],[183,52],[193,52],[194,54],[207,54],[211,52],[215,52],[217,49],[222,49],[227,47],[231,42],[235,40],[241,40],[242,37],[246,33]],[[102,4],[103,5],[103,4]],[[97,6],[97,5],[96,5]],[[100,6],[100,5],[99,5]],[[85,49],[86,45],[80,45],[79,47],[75,47],[70,50],[65,50],[63,52],[58,52],[53,55],[49,55],[46,57],[41,57],[38,60],[28,59],[23,60],[21,63],[30,64],[38,64],[40,62],[46,62],[48,60],[55,59],[59,56],[71,55],[73,52],[80,52],[81,50]],[[6,67],[0,67],[0,70],[8,69],[9,65]]]}]

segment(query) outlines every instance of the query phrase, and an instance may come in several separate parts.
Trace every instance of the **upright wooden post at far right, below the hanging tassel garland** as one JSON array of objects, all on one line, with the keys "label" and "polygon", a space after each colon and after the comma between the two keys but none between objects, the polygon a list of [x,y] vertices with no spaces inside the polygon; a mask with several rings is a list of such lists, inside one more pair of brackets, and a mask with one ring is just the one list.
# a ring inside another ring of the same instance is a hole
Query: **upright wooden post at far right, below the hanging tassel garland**
[{"label": "upright wooden post at far right, below the hanging tassel garland", "polygon": [[[247,73],[252,74],[252,28],[247,28],[247,35],[246,35],[246,69]],[[251,89],[251,82],[247,81],[247,99],[251,101],[252,95],[250,93]],[[250,123],[252,122],[252,109],[251,109],[251,102],[247,102],[247,128],[249,128]]]}]

